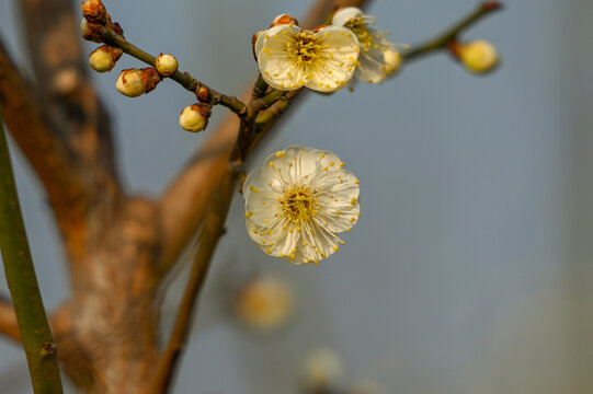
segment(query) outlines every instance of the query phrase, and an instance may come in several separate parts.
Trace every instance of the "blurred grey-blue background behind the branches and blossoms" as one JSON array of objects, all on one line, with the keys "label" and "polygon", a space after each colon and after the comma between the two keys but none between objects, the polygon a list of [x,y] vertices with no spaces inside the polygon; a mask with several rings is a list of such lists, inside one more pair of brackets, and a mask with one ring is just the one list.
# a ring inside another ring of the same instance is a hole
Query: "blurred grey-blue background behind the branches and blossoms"
[{"label": "blurred grey-blue background behind the branches and blossoms", "polygon": [[[307,10],[289,0],[105,4],[133,43],[174,54],[228,94],[256,70],[251,34],[280,13]],[[476,4],[376,0],[368,13],[395,42],[413,45]],[[0,0],[0,34],[26,69],[15,5]],[[476,77],[445,54],[430,56],[378,86],[310,94],[261,146],[250,169],[294,143],[337,153],[361,179],[363,216],[340,253],[297,267],[251,242],[237,195],[175,393],[299,393],[316,349],[331,349],[327,372],[342,387],[375,387],[365,394],[593,392],[593,3],[505,5],[464,35],[497,46],[494,73]],[[136,66],[124,57],[117,69]],[[127,188],[158,196],[227,111],[215,108],[208,130],[189,134],[178,115],[195,101],[190,93],[169,81],[129,100],[114,89],[116,77],[93,74]],[[52,310],[68,294],[64,251],[35,176],[12,153]],[[260,276],[286,287],[277,328],[235,313],[247,281]],[[0,290],[8,293],[3,275]],[[0,382],[2,393],[31,392],[22,350],[4,340]]]}]

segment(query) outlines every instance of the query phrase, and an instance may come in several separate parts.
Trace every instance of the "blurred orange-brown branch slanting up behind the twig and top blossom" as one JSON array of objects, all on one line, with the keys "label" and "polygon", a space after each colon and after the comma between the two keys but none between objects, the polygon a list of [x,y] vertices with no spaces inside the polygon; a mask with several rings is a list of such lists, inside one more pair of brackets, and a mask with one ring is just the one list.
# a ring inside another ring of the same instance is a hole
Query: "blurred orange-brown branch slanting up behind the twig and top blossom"
[{"label": "blurred orange-brown branch slanting up behind the twig and top blossom", "polygon": [[[301,24],[306,27],[317,26],[324,23],[327,15],[338,7],[363,7],[367,2],[364,0],[317,0]],[[250,86],[242,94],[241,100],[247,102],[251,92]],[[294,95],[296,96],[297,94]],[[160,204],[164,250],[160,266],[163,270],[167,270],[179,257],[204,219],[208,201],[226,171],[239,132],[239,119],[235,116],[227,117],[162,196]]]}]

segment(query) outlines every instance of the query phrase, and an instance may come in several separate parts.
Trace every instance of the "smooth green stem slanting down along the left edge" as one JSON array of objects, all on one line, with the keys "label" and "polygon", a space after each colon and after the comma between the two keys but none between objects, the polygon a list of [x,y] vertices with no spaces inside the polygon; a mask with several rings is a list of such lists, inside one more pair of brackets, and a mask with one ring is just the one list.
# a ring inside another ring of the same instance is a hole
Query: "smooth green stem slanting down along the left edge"
[{"label": "smooth green stem slanting down along the left edge", "polygon": [[35,393],[62,393],[49,331],[26,239],[0,108],[0,248]]}]

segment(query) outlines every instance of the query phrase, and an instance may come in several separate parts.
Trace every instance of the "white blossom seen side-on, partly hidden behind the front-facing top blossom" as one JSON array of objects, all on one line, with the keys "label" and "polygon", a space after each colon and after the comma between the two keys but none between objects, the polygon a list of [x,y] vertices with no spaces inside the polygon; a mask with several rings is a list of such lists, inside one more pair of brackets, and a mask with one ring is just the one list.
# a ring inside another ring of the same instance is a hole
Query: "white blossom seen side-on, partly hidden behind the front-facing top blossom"
[{"label": "white blossom seen side-on, partly hidden behind the front-facing top blossom", "polygon": [[401,63],[397,44],[389,42],[388,32],[373,27],[376,16],[365,15],[361,9],[346,7],[339,10],[332,24],[350,28],[361,47],[354,77],[363,82],[380,83]]}]

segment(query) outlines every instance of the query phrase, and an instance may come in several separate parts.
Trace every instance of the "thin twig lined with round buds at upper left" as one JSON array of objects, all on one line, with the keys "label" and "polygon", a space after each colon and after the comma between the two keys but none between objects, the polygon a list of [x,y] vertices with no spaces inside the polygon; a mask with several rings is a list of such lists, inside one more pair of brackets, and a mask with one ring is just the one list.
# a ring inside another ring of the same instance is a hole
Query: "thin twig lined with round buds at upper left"
[{"label": "thin twig lined with round buds at upper left", "polygon": [[[129,56],[133,56],[136,59],[141,60],[152,67],[156,66],[157,58],[155,56],[138,48],[136,45],[129,43],[126,38],[117,34],[117,32],[113,31],[112,28],[104,26],[102,30],[101,36],[105,39],[107,44],[121,48],[124,53],[128,54]],[[213,97],[212,102],[209,103],[212,105],[220,104],[241,116],[244,114],[247,109],[246,104],[239,99],[235,96],[225,95],[220,92],[215,91],[214,89],[209,86],[206,86],[204,83],[199,82],[197,79],[192,77],[189,72],[182,72],[178,70],[175,71],[174,74],[172,74],[169,78],[178,82],[180,85],[182,85],[186,90],[194,93],[197,93],[197,91],[202,86],[207,88],[210,91],[210,94]]]}]

